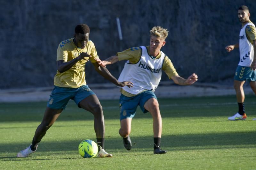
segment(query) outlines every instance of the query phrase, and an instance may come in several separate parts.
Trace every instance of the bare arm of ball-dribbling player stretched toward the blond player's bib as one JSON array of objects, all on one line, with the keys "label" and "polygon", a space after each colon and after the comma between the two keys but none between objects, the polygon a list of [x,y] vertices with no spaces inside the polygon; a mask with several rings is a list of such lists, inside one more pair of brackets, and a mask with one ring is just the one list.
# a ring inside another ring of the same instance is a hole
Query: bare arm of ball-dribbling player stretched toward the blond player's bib
[{"label": "bare arm of ball-dribbling player stretched toward the blond player's bib", "polygon": [[117,86],[124,87],[127,86],[129,88],[133,87],[133,83],[130,81],[123,81],[119,82],[112,74],[108,71],[107,68],[101,67],[98,63],[92,63],[94,66],[94,69],[104,78],[109,80],[110,82],[114,83]]}]

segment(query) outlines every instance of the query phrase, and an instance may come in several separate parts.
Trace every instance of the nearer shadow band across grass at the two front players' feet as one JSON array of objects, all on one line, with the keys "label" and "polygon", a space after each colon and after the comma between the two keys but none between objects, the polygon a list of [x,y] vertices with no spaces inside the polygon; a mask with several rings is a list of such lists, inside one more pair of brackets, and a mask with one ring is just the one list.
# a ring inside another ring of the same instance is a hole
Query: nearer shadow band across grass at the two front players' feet
[{"label": "nearer shadow band across grass at the two front players' feet", "polygon": [[[122,138],[106,138],[105,149],[107,151],[118,152],[134,152],[136,154],[145,154],[145,152],[153,153],[153,137],[132,137],[132,150],[126,151],[123,146]],[[95,139],[94,139],[95,140]],[[95,140],[96,141],[96,140]],[[162,137],[162,147],[168,151],[189,151],[204,149],[238,149],[238,148],[256,148],[256,132],[230,132],[230,133],[208,133],[208,134],[187,134],[187,135],[169,135]],[[56,141],[47,142],[44,140],[39,144],[36,153],[43,156],[49,154],[56,155],[67,154],[67,152],[77,152],[80,141]],[[1,144],[1,155],[4,153],[10,156],[0,156],[1,159],[16,159],[16,153],[25,147],[28,143]],[[42,153],[43,152],[43,153]],[[12,156],[11,156],[12,155]],[[68,159],[68,158],[67,158]]]}]

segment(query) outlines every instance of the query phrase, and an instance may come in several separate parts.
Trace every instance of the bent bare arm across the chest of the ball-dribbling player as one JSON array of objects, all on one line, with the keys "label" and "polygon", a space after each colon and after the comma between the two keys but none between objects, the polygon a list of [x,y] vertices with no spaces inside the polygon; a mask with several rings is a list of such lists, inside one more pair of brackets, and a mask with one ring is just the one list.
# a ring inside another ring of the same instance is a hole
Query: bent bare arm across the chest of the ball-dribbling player
[{"label": "bent bare arm across the chest of the ball-dribbling player", "polygon": [[80,60],[88,61],[88,59],[86,59],[85,57],[91,57],[91,55],[83,52],[78,57],[74,58],[73,60],[71,60],[69,62],[65,62],[64,60],[57,61],[58,71],[60,73],[63,73],[65,71],[71,69],[71,67],[73,67],[73,65],[75,65]]}]

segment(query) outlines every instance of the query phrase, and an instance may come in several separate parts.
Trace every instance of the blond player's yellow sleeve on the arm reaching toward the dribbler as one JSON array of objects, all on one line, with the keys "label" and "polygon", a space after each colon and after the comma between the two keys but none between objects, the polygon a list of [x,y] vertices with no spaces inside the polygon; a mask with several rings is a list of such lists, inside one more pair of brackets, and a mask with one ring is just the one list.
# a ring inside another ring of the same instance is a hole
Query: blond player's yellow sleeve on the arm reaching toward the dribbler
[{"label": "blond player's yellow sleeve on the arm reaching toward the dribbler", "polygon": [[141,48],[133,47],[126,49],[122,52],[118,52],[116,55],[118,56],[118,60],[129,60],[130,63],[135,64],[140,60],[141,57]]}]

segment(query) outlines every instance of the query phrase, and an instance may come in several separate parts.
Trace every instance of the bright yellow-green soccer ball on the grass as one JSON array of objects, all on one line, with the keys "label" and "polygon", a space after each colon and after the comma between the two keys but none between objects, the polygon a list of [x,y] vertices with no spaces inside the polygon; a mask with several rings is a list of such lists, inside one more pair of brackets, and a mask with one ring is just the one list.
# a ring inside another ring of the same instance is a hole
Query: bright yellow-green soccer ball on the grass
[{"label": "bright yellow-green soccer ball on the grass", "polygon": [[93,158],[98,153],[98,145],[94,141],[86,139],[79,144],[78,151],[84,158]]}]

